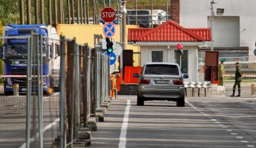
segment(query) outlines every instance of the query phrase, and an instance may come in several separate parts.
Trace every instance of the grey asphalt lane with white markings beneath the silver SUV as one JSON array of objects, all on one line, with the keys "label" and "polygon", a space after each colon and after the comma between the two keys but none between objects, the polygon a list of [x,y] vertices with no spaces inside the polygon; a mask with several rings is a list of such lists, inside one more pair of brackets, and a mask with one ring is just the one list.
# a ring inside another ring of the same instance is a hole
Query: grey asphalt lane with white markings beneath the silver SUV
[{"label": "grey asphalt lane with white markings beneath the silver SUV", "polygon": [[91,147],[256,147],[255,115],[253,97],[186,98],[178,108],[168,101],[136,106],[135,96],[118,96]]}]

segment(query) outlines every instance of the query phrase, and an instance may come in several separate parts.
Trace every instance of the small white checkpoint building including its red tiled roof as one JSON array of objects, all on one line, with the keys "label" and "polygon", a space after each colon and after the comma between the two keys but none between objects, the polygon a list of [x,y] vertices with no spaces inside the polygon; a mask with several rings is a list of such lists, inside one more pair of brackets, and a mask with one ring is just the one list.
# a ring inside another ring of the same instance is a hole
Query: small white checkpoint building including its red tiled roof
[{"label": "small white checkpoint building including its red tiled roof", "polygon": [[[172,20],[155,28],[128,29],[129,44],[141,47],[141,66],[147,62],[178,63],[184,74],[189,74],[189,81],[199,81],[198,48],[211,40],[210,29],[186,29]],[[180,57],[177,44],[183,44]]]}]

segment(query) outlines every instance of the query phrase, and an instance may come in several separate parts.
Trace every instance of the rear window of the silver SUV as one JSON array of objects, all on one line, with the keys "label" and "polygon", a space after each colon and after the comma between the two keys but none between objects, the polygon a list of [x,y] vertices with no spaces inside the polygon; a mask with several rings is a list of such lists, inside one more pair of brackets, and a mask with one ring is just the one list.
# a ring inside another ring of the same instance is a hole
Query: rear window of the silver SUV
[{"label": "rear window of the silver SUV", "polygon": [[179,69],[174,65],[152,64],[146,66],[145,74],[179,75]]}]

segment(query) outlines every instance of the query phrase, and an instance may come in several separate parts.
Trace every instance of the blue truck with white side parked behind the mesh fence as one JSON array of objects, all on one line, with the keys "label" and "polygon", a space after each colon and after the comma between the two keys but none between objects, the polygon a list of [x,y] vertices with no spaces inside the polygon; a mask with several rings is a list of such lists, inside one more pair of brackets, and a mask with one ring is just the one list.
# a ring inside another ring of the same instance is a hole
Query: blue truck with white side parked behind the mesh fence
[{"label": "blue truck with white side parked behind the mesh fence", "polygon": [[[13,94],[13,84],[19,84],[19,92],[26,92],[26,68],[28,54],[28,39],[15,36],[30,35],[31,31],[45,37],[43,43],[43,93],[49,88],[59,87],[60,57],[58,56],[59,36],[56,29],[44,24],[36,25],[7,25],[3,27],[1,58],[4,61],[4,93]],[[32,81],[36,82],[36,79]],[[36,83],[37,84],[37,83]]]}]

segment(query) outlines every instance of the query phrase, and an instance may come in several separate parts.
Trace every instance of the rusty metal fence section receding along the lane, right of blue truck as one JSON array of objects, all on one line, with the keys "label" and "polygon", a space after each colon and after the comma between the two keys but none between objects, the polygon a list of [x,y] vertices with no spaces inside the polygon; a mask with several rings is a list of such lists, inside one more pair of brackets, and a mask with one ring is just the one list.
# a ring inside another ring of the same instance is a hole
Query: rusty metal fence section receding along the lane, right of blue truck
[{"label": "rusty metal fence section receding along the lane, right of blue truck", "polygon": [[72,147],[79,130],[88,128],[87,118],[110,97],[110,59],[75,39],[62,37],[60,43],[60,147]]}]

